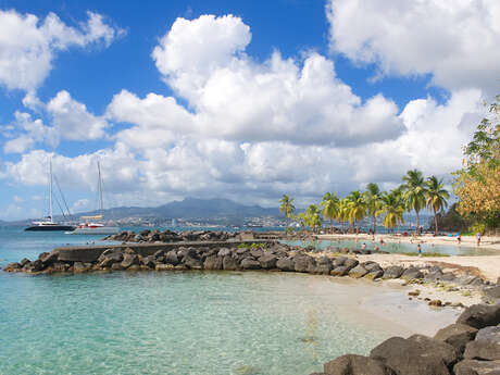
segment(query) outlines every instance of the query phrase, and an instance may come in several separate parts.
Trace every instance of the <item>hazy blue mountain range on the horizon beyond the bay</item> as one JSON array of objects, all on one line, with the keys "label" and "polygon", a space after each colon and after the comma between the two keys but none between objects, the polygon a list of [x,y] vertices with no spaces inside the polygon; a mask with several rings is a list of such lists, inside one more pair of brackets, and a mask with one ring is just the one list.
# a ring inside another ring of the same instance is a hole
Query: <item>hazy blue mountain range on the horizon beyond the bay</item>
[{"label": "hazy blue mountain range on the horizon beyond the bay", "polygon": [[[97,211],[78,212],[74,216],[96,215]],[[105,218],[121,220],[125,217],[158,217],[158,218],[214,218],[214,217],[255,217],[277,216],[279,210],[266,209],[260,205],[245,205],[228,199],[197,199],[185,198],[155,208],[118,207],[103,211]],[[61,220],[60,216],[54,217]],[[29,222],[0,222],[0,225],[24,224]]]}]

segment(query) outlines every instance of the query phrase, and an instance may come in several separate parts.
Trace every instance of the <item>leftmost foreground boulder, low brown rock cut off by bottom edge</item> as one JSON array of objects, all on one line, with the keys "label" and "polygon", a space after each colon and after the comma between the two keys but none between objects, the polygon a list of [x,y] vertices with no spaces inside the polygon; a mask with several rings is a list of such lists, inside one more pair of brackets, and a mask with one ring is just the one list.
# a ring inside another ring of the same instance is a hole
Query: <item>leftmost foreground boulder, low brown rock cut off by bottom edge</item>
[{"label": "leftmost foreground boulder, low brown rock cut off by bottom edge", "polygon": [[327,375],[396,375],[380,361],[355,354],[342,355],[325,363],[323,371]]}]

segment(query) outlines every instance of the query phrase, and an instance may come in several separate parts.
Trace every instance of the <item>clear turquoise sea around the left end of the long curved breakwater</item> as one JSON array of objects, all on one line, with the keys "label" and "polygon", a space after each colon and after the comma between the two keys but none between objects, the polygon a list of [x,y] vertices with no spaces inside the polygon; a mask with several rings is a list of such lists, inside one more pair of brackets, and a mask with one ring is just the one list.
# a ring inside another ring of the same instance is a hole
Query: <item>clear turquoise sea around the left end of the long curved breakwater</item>
[{"label": "clear turquoise sea around the left end of the long curved breakwater", "polygon": [[[0,228],[0,266],[90,240]],[[404,291],[311,275],[0,272],[0,374],[307,375],[398,334],[364,318],[363,303],[380,301],[410,303]]]}]

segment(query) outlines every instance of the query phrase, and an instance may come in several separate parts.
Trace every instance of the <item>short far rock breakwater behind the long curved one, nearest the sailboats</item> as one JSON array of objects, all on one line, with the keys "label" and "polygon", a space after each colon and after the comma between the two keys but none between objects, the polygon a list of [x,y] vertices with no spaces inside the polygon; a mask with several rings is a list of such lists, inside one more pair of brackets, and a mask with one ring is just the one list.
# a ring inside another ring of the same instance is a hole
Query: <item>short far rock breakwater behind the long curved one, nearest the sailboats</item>
[{"label": "short far rock breakwater behind the long curved one, nearest the sailboats", "polygon": [[140,233],[133,230],[122,232],[116,235],[105,237],[105,240],[121,242],[182,242],[182,241],[227,241],[239,237],[237,232],[213,232],[213,230],[189,230],[189,232],[172,232],[172,230],[149,230],[145,229]]}]

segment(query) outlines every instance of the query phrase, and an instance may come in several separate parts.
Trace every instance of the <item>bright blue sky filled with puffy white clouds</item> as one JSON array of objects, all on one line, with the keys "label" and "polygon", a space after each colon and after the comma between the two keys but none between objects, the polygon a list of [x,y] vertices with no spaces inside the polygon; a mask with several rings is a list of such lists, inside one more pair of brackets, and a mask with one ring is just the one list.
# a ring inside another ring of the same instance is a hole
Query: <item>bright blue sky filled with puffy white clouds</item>
[{"label": "bright blue sky filled with puffy white clouds", "polygon": [[[451,183],[500,92],[498,0],[0,0],[0,220]],[[61,198],[58,200],[62,204]]]}]

